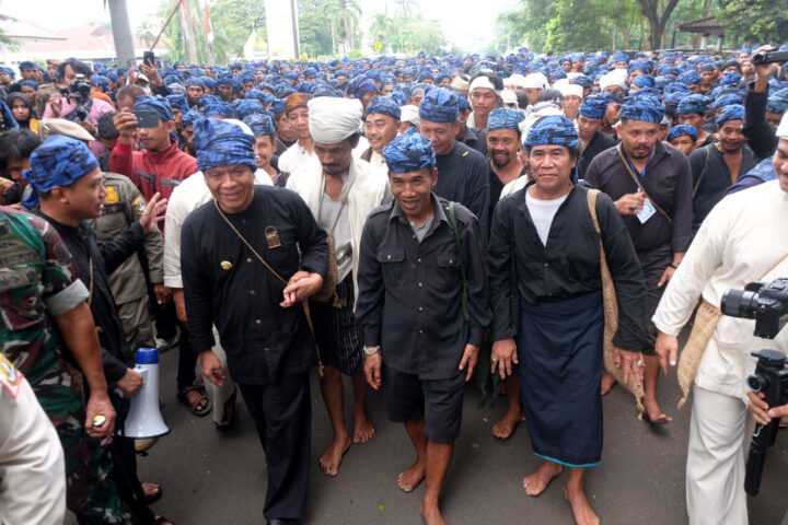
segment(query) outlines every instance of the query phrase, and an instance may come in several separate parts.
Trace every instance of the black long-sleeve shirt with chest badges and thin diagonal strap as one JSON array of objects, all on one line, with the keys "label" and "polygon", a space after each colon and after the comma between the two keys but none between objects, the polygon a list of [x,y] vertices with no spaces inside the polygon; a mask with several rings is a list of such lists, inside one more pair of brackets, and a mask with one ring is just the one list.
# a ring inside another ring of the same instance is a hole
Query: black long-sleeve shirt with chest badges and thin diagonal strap
[{"label": "black long-sleeve shirt with chest badges and thin diagonal strap", "polygon": [[[286,281],[301,269],[326,275],[326,234],[298,194],[255,186],[246,210],[224,215]],[[215,346],[216,324],[233,380],[267,384],[315,362],[302,306],[279,306],[286,284],[246,247],[213,200],[184,222],[181,271],[193,349]]]}]

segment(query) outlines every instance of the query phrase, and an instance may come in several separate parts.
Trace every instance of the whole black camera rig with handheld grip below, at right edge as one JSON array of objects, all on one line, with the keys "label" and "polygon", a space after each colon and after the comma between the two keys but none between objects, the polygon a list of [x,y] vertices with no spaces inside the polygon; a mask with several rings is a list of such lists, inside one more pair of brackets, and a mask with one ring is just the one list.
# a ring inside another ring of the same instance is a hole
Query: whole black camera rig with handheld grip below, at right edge
[{"label": "whole black camera rig with handheld grip below, at right edge", "polygon": [[[725,315],[755,319],[754,334],[774,339],[788,319],[788,279],[772,282],[751,282],[744,290],[726,290],[720,305]],[[786,355],[777,350],[751,352],[758,359],[755,373],[748,377],[753,392],[762,392],[769,407],[788,404],[788,369]],[[761,477],[766,462],[766,451],[775,444],[779,419],[768,424],[756,424],[750,442],[744,490],[750,495],[758,493]]]}]

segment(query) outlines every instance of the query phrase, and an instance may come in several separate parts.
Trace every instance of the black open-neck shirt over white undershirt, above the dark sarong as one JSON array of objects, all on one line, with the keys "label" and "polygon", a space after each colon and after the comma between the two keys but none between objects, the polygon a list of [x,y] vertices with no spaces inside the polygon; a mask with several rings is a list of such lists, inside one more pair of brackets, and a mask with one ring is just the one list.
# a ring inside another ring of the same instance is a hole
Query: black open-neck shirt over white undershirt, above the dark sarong
[{"label": "black open-neck shirt over white undershirt, above the dark sarong", "polygon": [[[512,271],[519,299],[528,304],[602,290],[600,234],[589,211],[588,188],[576,186],[569,191],[544,245],[525,202],[525,192],[533,184],[503,198],[493,219],[487,268],[496,341],[518,332],[520,319],[512,318],[511,311]],[[596,199],[596,218],[618,300],[618,330],[613,342],[624,350],[639,351],[646,326],[642,271],[621,214],[604,194]]]}]

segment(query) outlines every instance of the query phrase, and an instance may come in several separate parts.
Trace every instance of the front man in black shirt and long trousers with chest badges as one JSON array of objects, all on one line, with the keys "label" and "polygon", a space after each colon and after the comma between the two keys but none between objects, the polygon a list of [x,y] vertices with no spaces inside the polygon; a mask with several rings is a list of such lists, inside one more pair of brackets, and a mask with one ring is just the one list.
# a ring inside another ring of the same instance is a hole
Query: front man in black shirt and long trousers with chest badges
[{"label": "front man in black shirt and long trousers with chest badges", "polygon": [[222,386],[216,324],[266,452],[264,514],[282,525],[303,515],[309,486],[315,345],[298,303],[323,285],[326,235],[296,192],[254,185],[254,137],[216,118],[195,128],[197,164],[215,200],[182,231],[190,343],[202,374]]}]

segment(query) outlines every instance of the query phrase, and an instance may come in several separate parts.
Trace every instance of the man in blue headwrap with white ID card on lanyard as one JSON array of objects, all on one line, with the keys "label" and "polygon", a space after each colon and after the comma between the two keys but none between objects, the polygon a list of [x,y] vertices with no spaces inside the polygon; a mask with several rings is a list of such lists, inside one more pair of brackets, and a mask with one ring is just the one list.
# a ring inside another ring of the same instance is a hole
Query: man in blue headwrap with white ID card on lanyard
[{"label": "man in blue headwrap with white ID card on lanyard", "polygon": [[[586,182],[607,194],[624,218],[646,277],[650,318],[692,242],[692,172],[681,151],[659,140],[664,106],[658,98],[627,98],[619,118],[622,142],[596,155],[586,172]],[[646,364],[642,405],[649,421],[668,423],[671,418],[657,402],[654,338],[656,328],[649,323],[646,340],[637,349]],[[605,374],[603,395],[613,385],[613,376]]]}]

